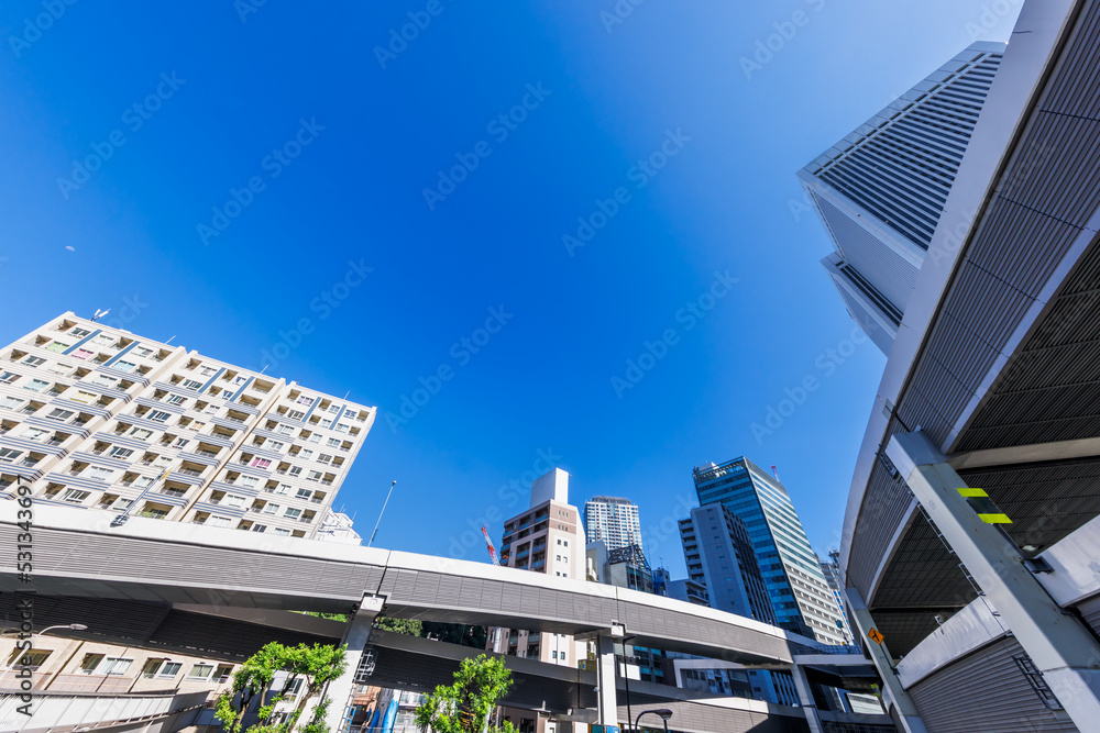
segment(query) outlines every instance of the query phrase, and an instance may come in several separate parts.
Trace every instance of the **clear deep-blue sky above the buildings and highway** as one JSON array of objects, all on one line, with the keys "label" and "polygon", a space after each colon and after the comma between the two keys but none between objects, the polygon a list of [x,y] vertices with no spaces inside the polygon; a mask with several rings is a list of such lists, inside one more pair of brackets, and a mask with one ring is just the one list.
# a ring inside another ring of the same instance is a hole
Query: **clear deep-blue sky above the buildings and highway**
[{"label": "clear deep-blue sky above the buildings and highway", "polygon": [[743,454],[838,543],[884,359],[794,171],[1020,3],[197,4],[4,2],[0,340],[111,308],[377,404],[337,503],[397,479],[380,546],[486,559],[542,455],[674,577]]}]

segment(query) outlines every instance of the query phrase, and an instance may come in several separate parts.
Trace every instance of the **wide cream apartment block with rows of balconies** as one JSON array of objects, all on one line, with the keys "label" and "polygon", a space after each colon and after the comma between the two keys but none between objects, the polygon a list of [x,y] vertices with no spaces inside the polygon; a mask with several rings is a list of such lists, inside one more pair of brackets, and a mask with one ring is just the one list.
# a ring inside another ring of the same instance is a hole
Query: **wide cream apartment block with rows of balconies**
[{"label": "wide cream apartment block with rows of balconies", "polygon": [[0,356],[0,496],[312,537],[376,409],[65,313]]}]

